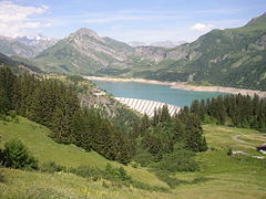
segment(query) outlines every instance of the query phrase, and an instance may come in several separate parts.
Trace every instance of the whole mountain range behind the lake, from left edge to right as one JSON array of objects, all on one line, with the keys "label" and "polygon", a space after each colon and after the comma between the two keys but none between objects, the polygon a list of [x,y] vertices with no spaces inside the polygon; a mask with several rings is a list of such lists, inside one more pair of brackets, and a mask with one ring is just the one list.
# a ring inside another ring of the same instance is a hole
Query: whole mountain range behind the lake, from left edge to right
[{"label": "whole mountain range behind the lake, from left edge to right", "polygon": [[[30,57],[40,39],[0,38],[8,55]],[[42,39],[43,40],[43,39]],[[142,77],[239,88],[266,90],[266,14],[235,29],[212,30],[195,42],[162,48],[131,45],[80,29],[29,63],[49,73]],[[161,45],[161,46],[157,46]],[[17,59],[20,60],[20,59]],[[252,75],[250,75],[252,74]]]}]

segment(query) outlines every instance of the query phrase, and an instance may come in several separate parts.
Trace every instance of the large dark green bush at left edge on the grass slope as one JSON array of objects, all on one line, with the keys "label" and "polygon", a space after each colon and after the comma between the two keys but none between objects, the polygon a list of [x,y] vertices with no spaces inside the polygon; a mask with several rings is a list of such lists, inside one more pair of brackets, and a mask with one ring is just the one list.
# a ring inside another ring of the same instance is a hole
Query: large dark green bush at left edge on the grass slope
[{"label": "large dark green bush at left edge on the grass slope", "polygon": [[4,144],[1,163],[4,167],[14,169],[38,169],[38,160],[30,155],[19,139],[11,139]]}]

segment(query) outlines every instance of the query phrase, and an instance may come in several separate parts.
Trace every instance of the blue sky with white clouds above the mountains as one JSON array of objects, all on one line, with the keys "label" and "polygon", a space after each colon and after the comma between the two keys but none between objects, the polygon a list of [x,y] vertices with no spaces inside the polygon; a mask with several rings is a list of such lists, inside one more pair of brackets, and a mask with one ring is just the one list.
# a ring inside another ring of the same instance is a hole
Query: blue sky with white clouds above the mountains
[{"label": "blue sky with white clouds above the mountains", "polygon": [[62,39],[88,28],[123,42],[191,42],[265,12],[265,0],[0,0],[0,35]]}]

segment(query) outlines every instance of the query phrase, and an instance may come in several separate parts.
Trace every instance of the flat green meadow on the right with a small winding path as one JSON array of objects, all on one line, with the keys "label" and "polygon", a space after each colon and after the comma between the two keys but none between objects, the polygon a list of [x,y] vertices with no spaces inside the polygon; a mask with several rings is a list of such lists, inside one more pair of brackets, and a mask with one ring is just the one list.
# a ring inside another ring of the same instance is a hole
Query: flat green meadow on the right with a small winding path
[{"label": "flat green meadow on the right with a small winding path", "polygon": [[[197,154],[201,171],[178,172],[174,177],[192,181],[193,185],[181,185],[175,189],[177,198],[265,198],[266,159],[252,156],[265,155],[256,151],[259,144],[266,142],[266,134],[246,128],[232,128],[217,125],[204,125],[208,146],[213,150]],[[235,137],[243,142],[236,142]],[[247,157],[227,156],[228,148],[248,153]]]}]

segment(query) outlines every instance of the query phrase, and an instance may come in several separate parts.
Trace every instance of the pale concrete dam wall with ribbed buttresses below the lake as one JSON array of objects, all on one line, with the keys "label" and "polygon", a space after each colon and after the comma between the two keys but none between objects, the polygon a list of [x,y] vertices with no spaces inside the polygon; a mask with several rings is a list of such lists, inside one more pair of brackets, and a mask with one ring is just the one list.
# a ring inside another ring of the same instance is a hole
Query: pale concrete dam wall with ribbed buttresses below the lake
[{"label": "pale concrete dam wall with ribbed buttresses below the lake", "polygon": [[[147,116],[152,117],[154,109],[162,108],[166,103],[155,102],[155,101],[147,101],[141,98],[126,98],[126,97],[114,97],[116,101],[121,102],[122,104],[129,106],[132,109],[141,114],[146,114]],[[175,106],[172,104],[166,104],[168,107],[168,113],[173,116],[175,113],[180,111],[180,106]]]}]

